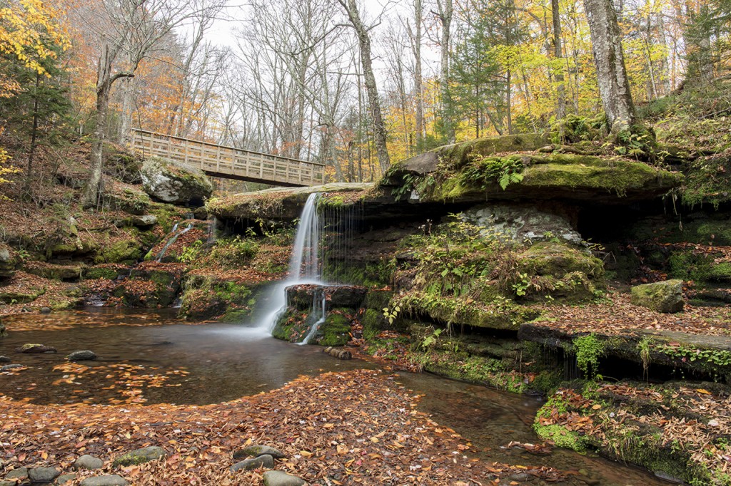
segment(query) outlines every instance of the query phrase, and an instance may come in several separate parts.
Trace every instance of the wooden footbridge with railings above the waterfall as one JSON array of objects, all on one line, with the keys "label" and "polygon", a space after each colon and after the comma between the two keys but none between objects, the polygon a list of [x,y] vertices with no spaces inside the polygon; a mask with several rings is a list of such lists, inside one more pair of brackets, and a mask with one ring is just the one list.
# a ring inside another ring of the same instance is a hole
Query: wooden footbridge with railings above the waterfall
[{"label": "wooden footbridge with railings above the waterfall", "polygon": [[298,187],[325,184],[325,164],[241,150],[153,131],[132,130],[132,147],[143,157],[168,158],[213,177]]}]

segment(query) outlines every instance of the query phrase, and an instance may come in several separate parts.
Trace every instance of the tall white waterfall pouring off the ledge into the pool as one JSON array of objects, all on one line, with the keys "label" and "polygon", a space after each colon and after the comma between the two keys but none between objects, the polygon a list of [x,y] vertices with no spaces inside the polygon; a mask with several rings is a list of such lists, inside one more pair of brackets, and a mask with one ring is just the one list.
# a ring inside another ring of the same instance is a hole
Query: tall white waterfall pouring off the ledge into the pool
[{"label": "tall white waterfall pouring off the ledge into the pool", "polygon": [[[269,333],[274,330],[277,320],[287,310],[287,287],[300,284],[320,284],[320,219],[317,215],[319,193],[311,193],[302,209],[300,223],[295,232],[292,257],[289,258],[289,274],[284,281],[272,289],[270,302],[261,327]],[[317,300],[317,294],[316,298]],[[306,344],[325,321],[325,298],[322,298],[321,318],[312,326],[307,337],[300,344]],[[314,310],[314,309],[313,309]],[[314,331],[313,331],[314,329]]]}]

